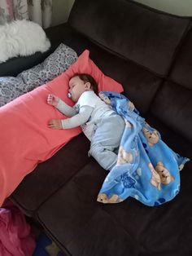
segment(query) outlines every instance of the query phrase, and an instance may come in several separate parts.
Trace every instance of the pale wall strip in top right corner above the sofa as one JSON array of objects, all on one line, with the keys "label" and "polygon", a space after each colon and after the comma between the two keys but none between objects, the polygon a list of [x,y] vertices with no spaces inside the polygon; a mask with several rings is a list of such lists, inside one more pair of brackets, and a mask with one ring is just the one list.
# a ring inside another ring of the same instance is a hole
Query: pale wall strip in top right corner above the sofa
[{"label": "pale wall strip in top right corner above the sofa", "polygon": [[175,15],[192,16],[192,0],[137,0],[135,2]]}]

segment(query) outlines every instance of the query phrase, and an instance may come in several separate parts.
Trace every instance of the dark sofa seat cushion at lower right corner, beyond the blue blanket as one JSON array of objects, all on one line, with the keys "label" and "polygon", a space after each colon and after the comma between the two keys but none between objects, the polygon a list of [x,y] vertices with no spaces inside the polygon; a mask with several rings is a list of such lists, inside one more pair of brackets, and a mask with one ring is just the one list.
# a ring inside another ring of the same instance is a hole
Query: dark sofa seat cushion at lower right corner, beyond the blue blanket
[{"label": "dark sofa seat cushion at lower right corner, beyond the blue blanket", "polygon": [[[178,136],[151,113],[146,116],[146,121],[159,130],[162,139],[170,148],[192,159],[190,150],[192,145],[187,139]],[[191,168],[192,162],[187,162],[181,170],[181,191],[172,201],[164,205],[147,207],[129,198],[120,207],[103,206],[107,213],[142,245],[139,255],[190,255],[192,251],[189,235],[192,228]]]}]

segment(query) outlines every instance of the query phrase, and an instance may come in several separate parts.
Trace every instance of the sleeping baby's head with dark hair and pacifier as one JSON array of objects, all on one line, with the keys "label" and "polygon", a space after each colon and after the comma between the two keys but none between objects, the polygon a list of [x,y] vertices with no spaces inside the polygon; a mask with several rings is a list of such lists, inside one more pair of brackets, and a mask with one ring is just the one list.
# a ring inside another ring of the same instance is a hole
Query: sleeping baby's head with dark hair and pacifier
[{"label": "sleeping baby's head with dark hair and pacifier", "polygon": [[98,85],[94,77],[87,73],[76,73],[69,80],[69,92],[72,101],[76,102],[81,94],[87,90],[94,90],[98,94]]}]

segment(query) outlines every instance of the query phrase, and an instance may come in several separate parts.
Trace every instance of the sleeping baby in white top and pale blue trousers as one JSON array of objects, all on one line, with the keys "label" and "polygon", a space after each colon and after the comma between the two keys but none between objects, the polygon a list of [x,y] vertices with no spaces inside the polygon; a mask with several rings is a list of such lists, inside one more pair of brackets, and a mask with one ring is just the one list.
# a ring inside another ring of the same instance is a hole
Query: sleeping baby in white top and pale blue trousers
[{"label": "sleeping baby in white top and pale blue trousers", "polygon": [[70,129],[81,126],[90,140],[89,156],[94,157],[105,170],[116,165],[120,139],[124,132],[124,119],[97,95],[98,85],[86,73],[76,73],[69,81],[69,97],[73,107],[55,95],[48,95],[47,103],[70,117],[49,121],[51,129]]}]

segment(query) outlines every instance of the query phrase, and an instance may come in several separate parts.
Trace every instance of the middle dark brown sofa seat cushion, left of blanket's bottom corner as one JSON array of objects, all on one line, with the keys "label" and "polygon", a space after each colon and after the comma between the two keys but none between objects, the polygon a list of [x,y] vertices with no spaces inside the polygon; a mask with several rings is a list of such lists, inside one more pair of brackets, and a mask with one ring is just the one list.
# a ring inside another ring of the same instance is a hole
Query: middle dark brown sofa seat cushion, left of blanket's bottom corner
[{"label": "middle dark brown sofa seat cushion, left of blanket's bottom corner", "polygon": [[139,245],[96,201],[107,171],[91,159],[70,183],[41,205],[38,221],[50,236],[56,235],[58,244],[70,255],[103,256],[105,252],[106,256],[136,256]]}]

